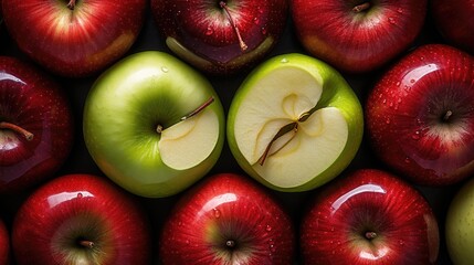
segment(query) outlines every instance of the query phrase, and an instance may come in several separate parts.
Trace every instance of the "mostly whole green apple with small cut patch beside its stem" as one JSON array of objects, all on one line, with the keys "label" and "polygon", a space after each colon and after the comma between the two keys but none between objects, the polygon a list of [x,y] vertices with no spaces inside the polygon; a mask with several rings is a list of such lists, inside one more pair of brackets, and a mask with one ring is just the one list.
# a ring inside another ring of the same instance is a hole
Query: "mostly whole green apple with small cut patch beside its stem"
[{"label": "mostly whole green apple with small cut patch beside its stem", "polygon": [[84,107],[84,139],[101,168],[131,193],[176,194],[215,165],[222,104],[200,73],[162,52],[140,52],[103,73]]}]

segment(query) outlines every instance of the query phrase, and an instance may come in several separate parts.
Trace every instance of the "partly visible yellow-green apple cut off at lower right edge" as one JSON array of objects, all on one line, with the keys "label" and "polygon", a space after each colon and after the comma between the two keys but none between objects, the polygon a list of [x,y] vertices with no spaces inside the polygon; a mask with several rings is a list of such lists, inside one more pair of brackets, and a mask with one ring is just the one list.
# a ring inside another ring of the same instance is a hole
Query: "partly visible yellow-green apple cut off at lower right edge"
[{"label": "partly visible yellow-green apple cut off at lower right edge", "polygon": [[465,182],[454,195],[444,229],[453,264],[474,264],[474,179]]}]

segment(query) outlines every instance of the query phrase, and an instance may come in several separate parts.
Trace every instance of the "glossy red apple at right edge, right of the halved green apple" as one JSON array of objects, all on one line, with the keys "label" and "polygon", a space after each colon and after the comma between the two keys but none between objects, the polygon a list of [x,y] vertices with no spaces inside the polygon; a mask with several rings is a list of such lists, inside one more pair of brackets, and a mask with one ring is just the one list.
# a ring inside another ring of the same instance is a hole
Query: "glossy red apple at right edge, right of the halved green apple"
[{"label": "glossy red apple at right edge, right of the halved green apple", "polygon": [[[425,186],[474,172],[474,60],[442,44],[421,46],[388,71],[366,106],[372,149],[389,167]],[[443,117],[452,115],[447,121]]]}]

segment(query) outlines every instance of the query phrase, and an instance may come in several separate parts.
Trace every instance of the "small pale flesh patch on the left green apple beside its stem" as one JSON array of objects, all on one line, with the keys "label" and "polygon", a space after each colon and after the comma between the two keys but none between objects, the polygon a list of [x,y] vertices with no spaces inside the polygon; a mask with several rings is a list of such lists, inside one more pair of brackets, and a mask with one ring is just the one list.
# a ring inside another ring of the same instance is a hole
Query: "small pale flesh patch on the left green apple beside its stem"
[{"label": "small pale flesh patch on the left green apple beside its stem", "polygon": [[158,144],[161,160],[177,170],[198,166],[207,159],[219,139],[219,118],[203,112],[165,129]]}]

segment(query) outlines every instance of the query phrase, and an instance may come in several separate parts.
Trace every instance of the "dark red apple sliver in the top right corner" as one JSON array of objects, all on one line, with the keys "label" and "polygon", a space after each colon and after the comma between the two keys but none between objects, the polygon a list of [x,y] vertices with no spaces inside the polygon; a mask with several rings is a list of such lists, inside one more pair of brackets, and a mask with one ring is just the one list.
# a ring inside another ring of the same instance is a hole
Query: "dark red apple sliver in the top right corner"
[{"label": "dark red apple sliver in the top right corner", "polygon": [[453,45],[474,54],[474,1],[431,1],[431,13],[441,35]]}]

